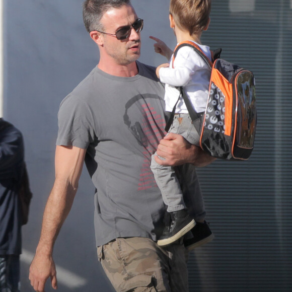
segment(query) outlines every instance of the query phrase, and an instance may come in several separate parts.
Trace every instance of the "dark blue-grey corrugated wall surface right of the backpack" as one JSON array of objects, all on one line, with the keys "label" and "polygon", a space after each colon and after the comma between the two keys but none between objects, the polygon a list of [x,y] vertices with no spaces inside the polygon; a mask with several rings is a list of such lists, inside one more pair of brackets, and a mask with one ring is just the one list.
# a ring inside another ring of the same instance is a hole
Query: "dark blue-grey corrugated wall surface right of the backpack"
[{"label": "dark blue-grey corrugated wall surface right of the backpack", "polygon": [[203,43],[254,72],[258,125],[249,161],[198,170],[215,239],[191,254],[190,291],[292,291],[290,4],[213,0]]}]

